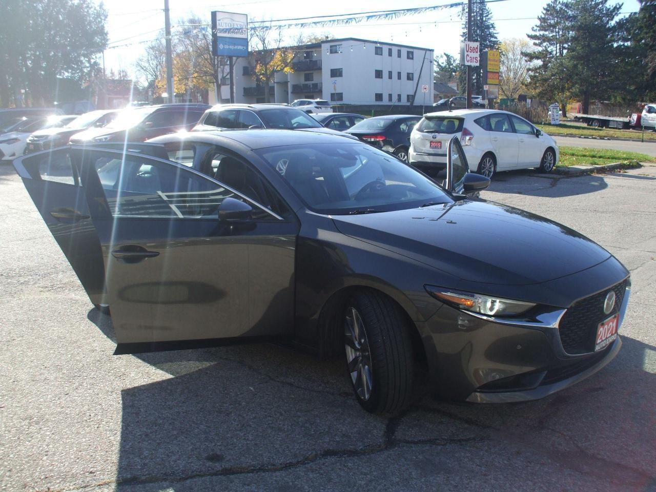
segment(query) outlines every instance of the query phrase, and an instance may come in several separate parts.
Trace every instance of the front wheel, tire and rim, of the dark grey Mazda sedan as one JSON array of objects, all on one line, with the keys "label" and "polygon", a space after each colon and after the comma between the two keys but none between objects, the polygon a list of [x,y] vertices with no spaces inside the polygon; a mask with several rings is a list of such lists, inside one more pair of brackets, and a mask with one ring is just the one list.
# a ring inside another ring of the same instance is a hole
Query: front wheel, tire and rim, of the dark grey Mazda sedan
[{"label": "front wheel, tire and rim, of the dark grey Mazda sedan", "polygon": [[396,414],[411,403],[414,362],[408,330],[400,308],[378,293],[361,291],[346,302],[346,368],[366,411]]}]

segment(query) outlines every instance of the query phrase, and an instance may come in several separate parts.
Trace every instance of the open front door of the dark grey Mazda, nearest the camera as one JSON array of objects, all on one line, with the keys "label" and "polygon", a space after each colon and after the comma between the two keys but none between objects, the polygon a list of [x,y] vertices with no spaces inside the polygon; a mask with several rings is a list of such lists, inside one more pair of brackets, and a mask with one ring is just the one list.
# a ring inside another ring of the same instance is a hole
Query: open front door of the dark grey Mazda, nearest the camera
[{"label": "open front door of the dark grey Mazda, nearest the camera", "polygon": [[180,163],[76,150],[117,354],[292,335],[295,219]]}]

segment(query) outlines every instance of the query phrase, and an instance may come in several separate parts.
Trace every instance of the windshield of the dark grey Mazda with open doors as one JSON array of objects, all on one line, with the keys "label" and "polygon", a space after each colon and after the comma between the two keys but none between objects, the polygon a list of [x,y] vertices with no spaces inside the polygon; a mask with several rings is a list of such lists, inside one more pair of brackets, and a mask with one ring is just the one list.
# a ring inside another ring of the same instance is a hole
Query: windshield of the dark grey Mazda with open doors
[{"label": "windshield of the dark grey Mazda with open doors", "polygon": [[435,182],[365,144],[306,144],[256,152],[317,213],[373,213],[452,202]]}]

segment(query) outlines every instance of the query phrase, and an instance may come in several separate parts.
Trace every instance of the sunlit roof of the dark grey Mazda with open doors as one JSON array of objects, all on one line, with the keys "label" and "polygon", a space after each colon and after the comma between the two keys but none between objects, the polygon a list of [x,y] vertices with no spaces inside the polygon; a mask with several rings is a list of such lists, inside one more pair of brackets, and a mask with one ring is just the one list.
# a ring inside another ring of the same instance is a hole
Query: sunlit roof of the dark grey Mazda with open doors
[{"label": "sunlit roof of the dark grey Mazda with open doors", "polygon": [[[261,149],[270,147],[279,147],[286,145],[301,144],[335,144],[335,142],[344,142],[359,144],[356,140],[344,138],[340,134],[319,133],[313,131],[298,130],[208,130],[202,132],[181,132],[171,133],[158,136],[148,140],[155,144],[168,144],[171,142],[180,142],[182,140],[192,140],[194,142],[203,142],[212,145],[225,145],[226,140],[237,142],[251,149]],[[366,145],[366,144],[363,144]]]}]

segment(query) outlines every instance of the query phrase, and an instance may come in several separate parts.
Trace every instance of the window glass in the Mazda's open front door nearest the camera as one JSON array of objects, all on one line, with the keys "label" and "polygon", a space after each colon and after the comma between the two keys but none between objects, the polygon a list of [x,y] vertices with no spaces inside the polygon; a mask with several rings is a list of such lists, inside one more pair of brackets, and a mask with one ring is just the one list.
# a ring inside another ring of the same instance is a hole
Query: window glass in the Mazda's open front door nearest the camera
[{"label": "window glass in the Mazda's open front door nearest the camera", "polygon": [[184,167],[144,155],[90,155],[113,216],[212,218],[231,190]]}]

